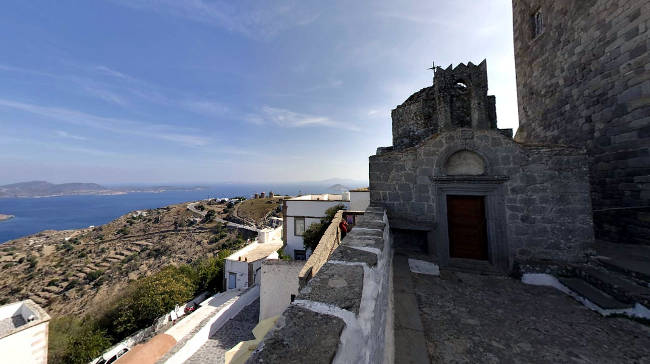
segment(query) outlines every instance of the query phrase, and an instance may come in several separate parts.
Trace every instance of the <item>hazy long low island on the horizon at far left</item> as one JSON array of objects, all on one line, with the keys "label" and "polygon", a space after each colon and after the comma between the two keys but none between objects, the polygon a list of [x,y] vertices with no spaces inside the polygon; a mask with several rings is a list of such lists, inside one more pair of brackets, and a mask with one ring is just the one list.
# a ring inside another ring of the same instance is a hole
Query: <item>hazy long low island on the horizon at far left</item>
[{"label": "hazy long low island on the horizon at far left", "polygon": [[205,187],[153,186],[109,188],[98,185],[97,183],[54,184],[46,181],[30,181],[0,186],[0,198],[55,197],[69,195],[121,195],[130,192],[165,192],[201,189],[205,189]]}]

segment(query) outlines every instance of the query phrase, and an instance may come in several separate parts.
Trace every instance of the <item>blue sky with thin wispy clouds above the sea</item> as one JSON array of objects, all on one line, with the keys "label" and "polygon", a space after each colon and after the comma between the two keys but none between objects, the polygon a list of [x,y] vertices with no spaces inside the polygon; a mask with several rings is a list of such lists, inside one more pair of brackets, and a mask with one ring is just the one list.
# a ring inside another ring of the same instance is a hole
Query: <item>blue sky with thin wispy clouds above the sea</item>
[{"label": "blue sky with thin wispy clouds above the sea", "polygon": [[516,128],[510,0],[3,1],[0,184],[366,180],[390,110],[487,58]]}]

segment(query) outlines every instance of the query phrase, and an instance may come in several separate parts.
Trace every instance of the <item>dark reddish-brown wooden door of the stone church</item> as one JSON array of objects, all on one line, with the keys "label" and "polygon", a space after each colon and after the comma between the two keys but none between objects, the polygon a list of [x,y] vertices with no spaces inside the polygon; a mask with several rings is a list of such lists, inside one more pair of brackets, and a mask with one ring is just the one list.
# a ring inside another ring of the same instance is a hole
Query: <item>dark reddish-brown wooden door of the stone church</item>
[{"label": "dark reddish-brown wooden door of the stone church", "polygon": [[484,196],[447,196],[449,256],[488,259]]}]

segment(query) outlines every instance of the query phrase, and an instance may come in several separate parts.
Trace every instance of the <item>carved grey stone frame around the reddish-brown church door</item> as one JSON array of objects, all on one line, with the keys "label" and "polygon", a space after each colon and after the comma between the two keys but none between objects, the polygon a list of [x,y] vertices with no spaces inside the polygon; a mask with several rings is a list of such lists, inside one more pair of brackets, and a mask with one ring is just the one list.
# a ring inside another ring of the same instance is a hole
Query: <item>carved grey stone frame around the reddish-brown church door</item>
[{"label": "carved grey stone frame around the reddish-brown church door", "polygon": [[[487,225],[488,262],[495,268],[510,270],[510,251],[506,232],[504,185],[507,177],[438,177],[432,178],[436,196],[437,221],[434,229],[434,249],[440,266],[454,265],[458,258],[449,255],[447,228],[447,195],[483,196]],[[467,260],[462,259],[467,262]],[[480,265],[477,261],[477,265]],[[464,264],[465,266],[467,264]]]}]

